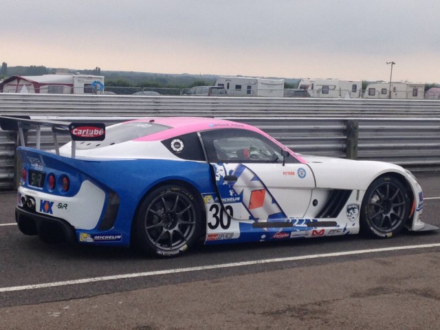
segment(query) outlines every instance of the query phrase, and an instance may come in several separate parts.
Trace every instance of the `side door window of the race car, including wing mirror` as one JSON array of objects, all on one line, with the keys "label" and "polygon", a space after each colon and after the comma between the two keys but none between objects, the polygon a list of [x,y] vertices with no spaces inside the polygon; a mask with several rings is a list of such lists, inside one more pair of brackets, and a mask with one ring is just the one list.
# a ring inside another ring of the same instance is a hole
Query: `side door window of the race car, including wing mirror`
[{"label": "side door window of the race car, including wing mirror", "polygon": [[[208,162],[276,163],[283,162],[281,147],[254,131],[217,129],[201,133]],[[285,162],[298,162],[287,157]]]}]

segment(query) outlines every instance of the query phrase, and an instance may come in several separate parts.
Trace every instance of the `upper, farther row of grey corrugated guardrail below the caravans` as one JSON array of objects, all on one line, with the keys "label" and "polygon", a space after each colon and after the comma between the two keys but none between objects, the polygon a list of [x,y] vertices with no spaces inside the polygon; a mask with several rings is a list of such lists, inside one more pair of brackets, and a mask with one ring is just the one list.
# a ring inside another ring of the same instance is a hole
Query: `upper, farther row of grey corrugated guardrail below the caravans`
[{"label": "upper, farther row of grey corrugated guardrail below the caravans", "polygon": [[0,93],[3,115],[440,118],[440,100],[243,98]]}]

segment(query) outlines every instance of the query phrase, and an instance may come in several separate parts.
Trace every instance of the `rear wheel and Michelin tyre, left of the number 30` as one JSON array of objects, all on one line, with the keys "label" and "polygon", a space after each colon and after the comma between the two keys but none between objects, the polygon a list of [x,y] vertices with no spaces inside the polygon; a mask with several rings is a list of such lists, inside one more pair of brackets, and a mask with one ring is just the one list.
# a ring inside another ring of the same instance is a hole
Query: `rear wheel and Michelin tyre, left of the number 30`
[{"label": "rear wheel and Michelin tyre, left of the number 30", "polygon": [[178,185],[160,186],[140,204],[133,226],[135,245],[150,256],[177,256],[199,239],[201,219],[197,195]]}]

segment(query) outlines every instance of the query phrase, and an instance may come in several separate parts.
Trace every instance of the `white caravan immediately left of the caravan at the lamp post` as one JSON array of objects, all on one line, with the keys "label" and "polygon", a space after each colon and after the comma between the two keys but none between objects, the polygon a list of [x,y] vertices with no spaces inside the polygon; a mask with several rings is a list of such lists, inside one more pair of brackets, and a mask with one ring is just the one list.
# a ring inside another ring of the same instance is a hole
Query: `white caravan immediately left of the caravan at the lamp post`
[{"label": "white caravan immediately left of the caravan at the lamp post", "polygon": [[298,85],[312,98],[360,98],[362,81],[338,79],[303,79]]}]

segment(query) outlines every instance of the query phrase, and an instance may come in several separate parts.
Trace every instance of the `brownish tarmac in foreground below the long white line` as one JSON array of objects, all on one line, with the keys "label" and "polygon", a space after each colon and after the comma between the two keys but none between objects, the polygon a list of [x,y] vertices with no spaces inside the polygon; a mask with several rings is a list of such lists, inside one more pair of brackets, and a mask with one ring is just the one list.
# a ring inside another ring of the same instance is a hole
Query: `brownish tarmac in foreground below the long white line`
[{"label": "brownish tarmac in foreground below the long white line", "polygon": [[429,251],[8,307],[0,329],[439,329]]}]

